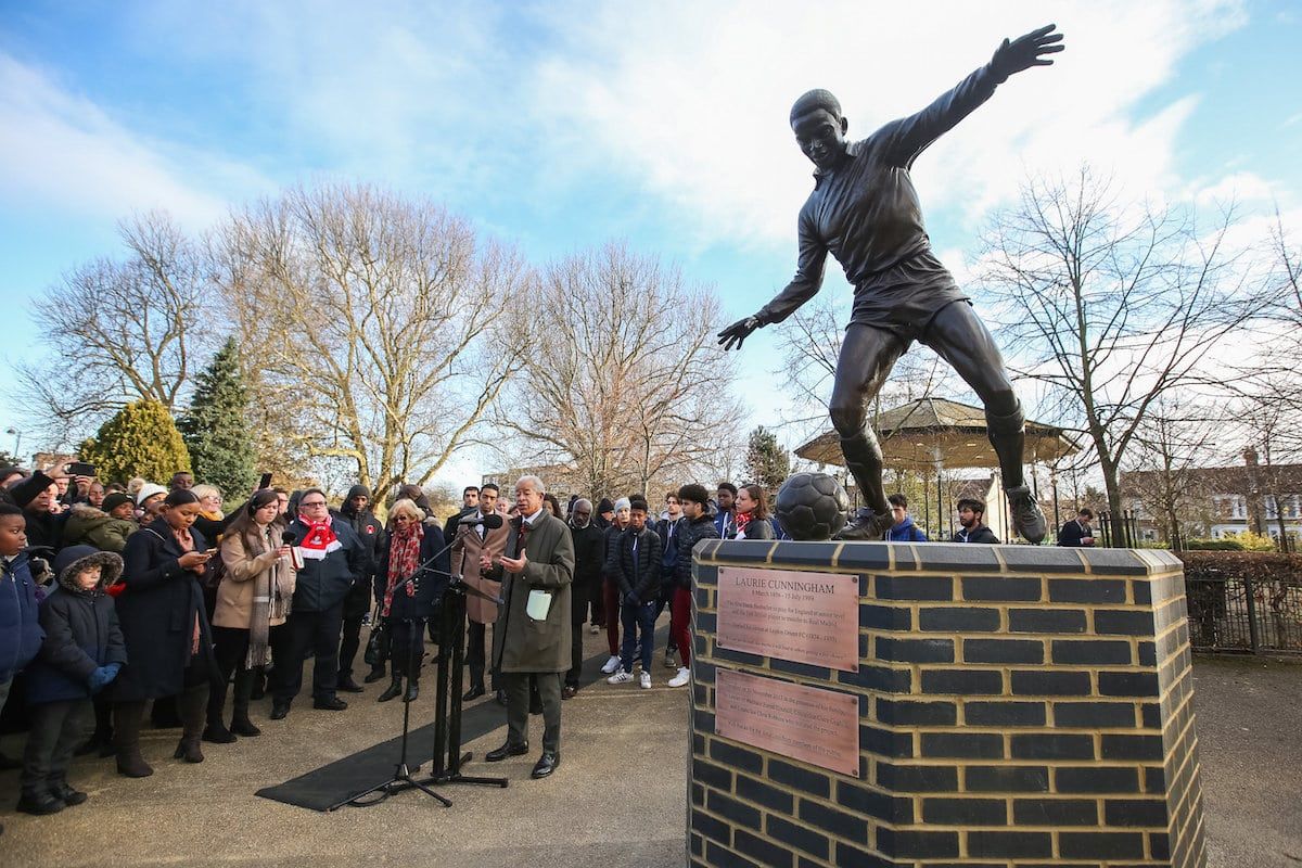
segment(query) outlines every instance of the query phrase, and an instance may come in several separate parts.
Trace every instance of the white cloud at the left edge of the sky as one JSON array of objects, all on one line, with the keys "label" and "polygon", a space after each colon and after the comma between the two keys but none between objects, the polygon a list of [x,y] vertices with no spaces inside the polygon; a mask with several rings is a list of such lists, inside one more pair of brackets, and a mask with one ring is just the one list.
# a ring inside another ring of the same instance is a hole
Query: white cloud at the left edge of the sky
[{"label": "white cloud at the left edge of the sky", "polygon": [[164,208],[207,225],[227,195],[266,187],[215,154],[151,141],[51,75],[0,52],[0,198],[16,210],[118,219]]}]

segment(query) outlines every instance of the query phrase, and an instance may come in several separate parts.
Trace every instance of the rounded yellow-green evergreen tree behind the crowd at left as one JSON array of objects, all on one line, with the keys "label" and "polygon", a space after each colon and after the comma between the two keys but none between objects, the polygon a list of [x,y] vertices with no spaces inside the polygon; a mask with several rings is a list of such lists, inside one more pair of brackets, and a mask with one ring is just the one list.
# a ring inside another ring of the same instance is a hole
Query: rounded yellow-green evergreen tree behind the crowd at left
[{"label": "rounded yellow-green evergreen tree behind the crowd at left", "polygon": [[129,403],[82,444],[82,461],[95,465],[105,481],[125,483],[133,476],[167,484],[172,474],[190,470],[190,452],[176,429],[172,414],[151,398]]}]

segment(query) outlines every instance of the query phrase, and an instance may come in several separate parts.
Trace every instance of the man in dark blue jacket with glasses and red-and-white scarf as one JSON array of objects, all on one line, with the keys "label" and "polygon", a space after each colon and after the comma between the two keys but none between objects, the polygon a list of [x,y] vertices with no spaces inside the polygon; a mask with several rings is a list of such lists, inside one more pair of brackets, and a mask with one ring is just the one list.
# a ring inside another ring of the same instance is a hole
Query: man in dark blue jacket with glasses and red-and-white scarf
[{"label": "man in dark blue jacket with glasses and red-and-white scarf", "polygon": [[339,688],[339,643],[344,600],[368,569],[362,540],[348,522],[332,518],[326,492],[309,488],[298,500],[298,518],[288,531],[302,566],[294,584],[289,619],[272,632],[271,718],[283,720],[303,685],[303,660],[312,665],[312,708],[342,711]]}]

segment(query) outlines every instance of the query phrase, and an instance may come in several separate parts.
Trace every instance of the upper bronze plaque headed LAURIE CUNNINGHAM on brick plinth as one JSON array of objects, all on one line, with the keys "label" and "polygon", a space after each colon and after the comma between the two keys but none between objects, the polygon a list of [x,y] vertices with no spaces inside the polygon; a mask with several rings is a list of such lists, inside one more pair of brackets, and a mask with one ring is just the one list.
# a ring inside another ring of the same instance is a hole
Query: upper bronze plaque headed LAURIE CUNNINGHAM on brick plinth
[{"label": "upper bronze plaque headed LAURIE CUNNINGHAM on brick plinth", "polygon": [[828,666],[859,668],[859,576],[719,567],[721,648]]}]

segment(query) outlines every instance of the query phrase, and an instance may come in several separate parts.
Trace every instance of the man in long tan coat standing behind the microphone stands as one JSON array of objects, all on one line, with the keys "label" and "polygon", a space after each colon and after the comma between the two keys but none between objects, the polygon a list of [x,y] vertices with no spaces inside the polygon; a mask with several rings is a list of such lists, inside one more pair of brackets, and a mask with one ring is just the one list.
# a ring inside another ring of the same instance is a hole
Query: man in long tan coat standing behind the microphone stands
[{"label": "man in long tan coat standing behind the microphone stands", "polygon": [[[457,523],[456,536],[452,541],[452,571],[475,591],[483,591],[490,597],[496,599],[501,593],[501,586],[487,575],[479,573],[479,560],[482,556],[501,557],[506,550],[506,523],[499,518],[496,528],[484,527],[484,515],[493,515],[497,506],[497,487],[486,484],[477,492],[479,495],[478,506],[462,515]],[[471,701],[484,695],[484,635],[488,625],[497,622],[497,604],[483,597],[466,595],[466,618],[470,626],[466,631],[466,662],[470,664],[470,690],[462,696],[462,701]],[[496,671],[492,675],[492,688],[499,691],[499,699],[505,696],[500,692]]]}]

